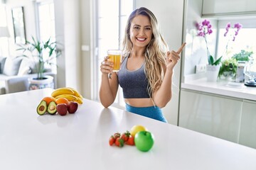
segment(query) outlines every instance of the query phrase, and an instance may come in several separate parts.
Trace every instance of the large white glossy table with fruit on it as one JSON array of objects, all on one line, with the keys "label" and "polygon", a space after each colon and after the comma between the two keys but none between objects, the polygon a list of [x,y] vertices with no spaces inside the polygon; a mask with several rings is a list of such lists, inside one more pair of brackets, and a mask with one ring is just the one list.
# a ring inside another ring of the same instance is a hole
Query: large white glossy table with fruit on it
[{"label": "large white glossy table with fruit on it", "polygon": [[[256,169],[256,149],[84,99],[75,114],[38,115],[52,89],[0,96],[0,169]],[[144,125],[154,147],[110,147],[114,132]]]}]

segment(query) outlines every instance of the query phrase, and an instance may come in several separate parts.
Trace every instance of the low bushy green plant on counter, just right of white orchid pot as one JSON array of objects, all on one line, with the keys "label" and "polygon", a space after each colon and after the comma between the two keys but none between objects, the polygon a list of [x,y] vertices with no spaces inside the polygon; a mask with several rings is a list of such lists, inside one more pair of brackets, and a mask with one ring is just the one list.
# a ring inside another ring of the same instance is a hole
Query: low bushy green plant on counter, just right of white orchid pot
[{"label": "low bushy green plant on counter, just right of white orchid pot", "polygon": [[232,79],[238,69],[238,61],[235,58],[223,60],[220,66],[218,77],[224,76],[226,79]]}]

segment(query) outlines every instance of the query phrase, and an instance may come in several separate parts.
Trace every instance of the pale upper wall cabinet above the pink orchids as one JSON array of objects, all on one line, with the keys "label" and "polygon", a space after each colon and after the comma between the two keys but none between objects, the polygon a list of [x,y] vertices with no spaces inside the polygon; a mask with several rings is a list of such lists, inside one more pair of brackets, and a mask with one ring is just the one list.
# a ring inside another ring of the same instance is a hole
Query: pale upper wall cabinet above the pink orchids
[{"label": "pale upper wall cabinet above the pink orchids", "polygon": [[203,0],[203,16],[256,13],[255,0]]}]

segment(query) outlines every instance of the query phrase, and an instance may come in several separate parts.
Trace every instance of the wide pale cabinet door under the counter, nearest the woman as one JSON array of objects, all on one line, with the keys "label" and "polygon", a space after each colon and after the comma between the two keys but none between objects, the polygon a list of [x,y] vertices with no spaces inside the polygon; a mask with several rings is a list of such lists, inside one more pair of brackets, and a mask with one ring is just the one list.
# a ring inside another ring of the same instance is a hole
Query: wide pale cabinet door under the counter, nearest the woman
[{"label": "wide pale cabinet door under the counter, nearest the woman", "polygon": [[238,142],[242,100],[181,89],[178,125]]}]

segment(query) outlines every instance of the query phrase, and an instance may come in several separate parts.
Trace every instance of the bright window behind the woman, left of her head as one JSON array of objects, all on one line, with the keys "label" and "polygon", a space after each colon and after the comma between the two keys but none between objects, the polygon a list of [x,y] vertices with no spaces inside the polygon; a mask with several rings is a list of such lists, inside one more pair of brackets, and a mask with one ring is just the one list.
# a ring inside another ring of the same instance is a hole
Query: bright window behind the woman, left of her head
[{"label": "bright window behind the woman, left of her head", "polygon": [[[122,38],[124,36],[124,28],[127,18],[133,10],[133,1],[127,0],[98,0],[97,1],[97,91],[100,89],[101,72],[100,62],[107,55],[109,49],[120,49]],[[98,96],[98,95],[97,95]],[[98,99],[98,97],[97,97]],[[117,94],[114,103],[124,106],[122,100],[122,91]]]}]

